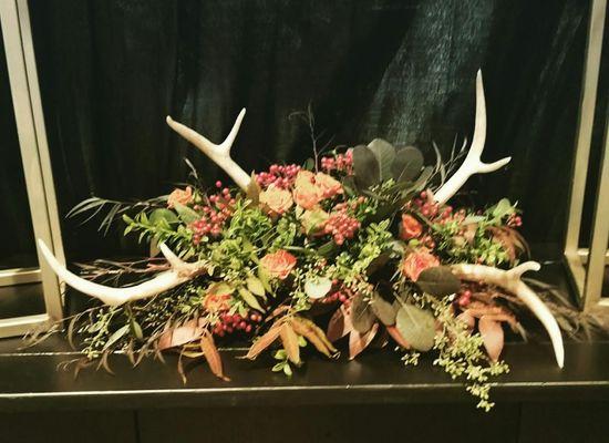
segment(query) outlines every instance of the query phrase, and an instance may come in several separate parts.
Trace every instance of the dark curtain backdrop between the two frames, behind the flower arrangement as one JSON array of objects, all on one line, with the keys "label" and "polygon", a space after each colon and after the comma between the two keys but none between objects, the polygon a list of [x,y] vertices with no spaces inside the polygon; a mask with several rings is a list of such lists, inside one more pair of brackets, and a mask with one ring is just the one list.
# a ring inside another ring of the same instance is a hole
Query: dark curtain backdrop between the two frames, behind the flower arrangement
[{"label": "dark curtain backdrop between the two frames, behind the flower arrangement", "polygon": [[[60,210],[91,195],[171,190],[187,156],[219,171],[165,115],[224,138],[246,169],[311,153],[289,119],[311,104],[323,142],[412,143],[433,159],[471,136],[475,75],[488,107],[477,204],[518,200],[525,234],[558,254],[568,198],[588,1],[202,0],[30,1]],[[70,259],[137,253],[116,229],[64,220]],[[543,249],[539,249],[543,250]],[[544,249],[547,250],[547,249]]]}]

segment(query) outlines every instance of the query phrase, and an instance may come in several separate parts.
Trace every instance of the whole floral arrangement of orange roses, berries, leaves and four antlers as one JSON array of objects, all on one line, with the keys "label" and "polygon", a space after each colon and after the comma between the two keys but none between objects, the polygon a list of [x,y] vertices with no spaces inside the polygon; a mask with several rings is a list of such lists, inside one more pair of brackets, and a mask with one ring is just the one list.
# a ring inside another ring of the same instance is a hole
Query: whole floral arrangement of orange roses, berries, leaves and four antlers
[{"label": "whole floral arrangement of orange roses, berries, leaves and four antlers", "polygon": [[[272,371],[289,377],[311,351],[336,359],[348,349],[354,359],[376,343],[395,349],[405,364],[434,352],[434,364],[464,379],[488,410],[491,378],[508,371],[500,360],[504,326],[523,332],[518,316],[527,310],[547,329],[562,365],[558,324],[520,279],[539,265],[519,261],[528,251],[516,206],[507,199],[483,209],[447,204],[472,174],[509,161],[481,162],[479,73],[476,97],[468,152],[464,146],[447,162],[438,156],[435,166],[425,166],[415,147],[376,138],[344,152],[316,150],[302,166],[275,164],[250,175],[230,157],[245,110],[219,145],[168,117],[237,187],[217,182],[209,189],[193,168],[190,183],[168,196],[132,205],[91,198],[73,209],[112,204],[104,223],[122,218],[125,235],[148,243],[144,262],[97,262],[84,267],[83,278],[40,243],[63,280],[103,302],[69,321],[69,339],[79,337],[84,354],[78,367],[109,369],[116,350],[134,364],[175,350],[183,377],[183,359],[200,359],[228,380],[218,342],[245,340],[245,358],[270,352]],[[93,281],[151,274],[121,287]]]}]

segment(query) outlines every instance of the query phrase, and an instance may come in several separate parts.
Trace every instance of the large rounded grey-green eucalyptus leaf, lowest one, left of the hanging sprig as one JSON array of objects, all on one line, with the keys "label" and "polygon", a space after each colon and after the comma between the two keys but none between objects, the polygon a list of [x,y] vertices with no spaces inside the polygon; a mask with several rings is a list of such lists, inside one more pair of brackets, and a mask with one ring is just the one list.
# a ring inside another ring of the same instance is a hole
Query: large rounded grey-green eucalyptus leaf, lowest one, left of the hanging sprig
[{"label": "large rounded grey-green eucalyptus leaf, lowest one, left of the hanging sprig", "polygon": [[404,303],[395,317],[395,327],[413,349],[425,352],[433,348],[435,318],[432,312]]}]

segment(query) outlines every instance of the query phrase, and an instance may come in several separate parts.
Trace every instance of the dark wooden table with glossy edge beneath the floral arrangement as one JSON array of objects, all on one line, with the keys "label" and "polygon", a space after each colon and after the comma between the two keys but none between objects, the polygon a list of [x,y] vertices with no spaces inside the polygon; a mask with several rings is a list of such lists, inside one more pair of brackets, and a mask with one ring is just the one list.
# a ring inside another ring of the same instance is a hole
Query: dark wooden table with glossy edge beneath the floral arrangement
[{"label": "dark wooden table with glossy edge beneath the floral arrangement", "polygon": [[1,442],[609,442],[609,341],[567,342],[562,370],[548,342],[508,343],[489,413],[432,356],[416,368],[385,350],[310,356],[287,379],[228,350],[233,381],[197,365],[183,385],[174,356],[132,369],[118,354],[115,375],[74,379],[56,369],[78,357],[61,337],[19,346],[0,341]]}]

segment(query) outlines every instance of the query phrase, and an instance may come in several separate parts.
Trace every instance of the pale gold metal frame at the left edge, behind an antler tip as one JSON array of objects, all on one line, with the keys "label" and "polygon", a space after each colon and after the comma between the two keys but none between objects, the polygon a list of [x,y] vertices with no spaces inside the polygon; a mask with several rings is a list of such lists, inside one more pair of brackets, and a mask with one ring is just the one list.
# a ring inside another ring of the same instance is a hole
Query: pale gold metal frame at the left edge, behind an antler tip
[{"label": "pale gold metal frame at the left edge, behind an antler tip", "polygon": [[[28,1],[1,0],[0,23],[34,237],[43,239],[64,261]],[[0,320],[0,337],[19,336],[62,318],[61,284],[40,251],[38,261],[40,269],[0,272],[0,286],[41,281],[47,312]]]}]

